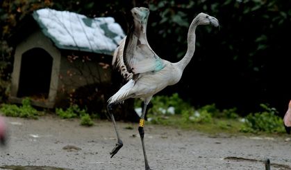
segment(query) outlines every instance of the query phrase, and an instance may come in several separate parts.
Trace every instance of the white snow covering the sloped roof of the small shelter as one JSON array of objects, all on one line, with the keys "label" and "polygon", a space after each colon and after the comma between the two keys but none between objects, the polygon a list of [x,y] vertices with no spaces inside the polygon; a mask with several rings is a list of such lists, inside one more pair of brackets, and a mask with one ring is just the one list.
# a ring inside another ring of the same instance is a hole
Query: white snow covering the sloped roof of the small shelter
[{"label": "white snow covering the sloped roof of the small shelter", "polygon": [[58,48],[113,55],[124,31],[113,17],[88,18],[49,8],[36,10],[33,18]]}]

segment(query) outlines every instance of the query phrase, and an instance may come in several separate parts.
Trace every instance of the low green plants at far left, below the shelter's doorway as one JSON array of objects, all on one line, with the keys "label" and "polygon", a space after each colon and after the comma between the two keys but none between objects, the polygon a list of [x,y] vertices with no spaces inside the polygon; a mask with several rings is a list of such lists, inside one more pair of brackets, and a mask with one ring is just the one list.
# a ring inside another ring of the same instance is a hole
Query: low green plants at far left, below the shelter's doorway
[{"label": "low green plants at far left, below the shelter's doorway", "polygon": [[17,106],[16,104],[2,104],[0,111],[3,115],[10,117],[26,117],[37,119],[38,111],[31,106],[29,98],[22,100],[22,106]]}]

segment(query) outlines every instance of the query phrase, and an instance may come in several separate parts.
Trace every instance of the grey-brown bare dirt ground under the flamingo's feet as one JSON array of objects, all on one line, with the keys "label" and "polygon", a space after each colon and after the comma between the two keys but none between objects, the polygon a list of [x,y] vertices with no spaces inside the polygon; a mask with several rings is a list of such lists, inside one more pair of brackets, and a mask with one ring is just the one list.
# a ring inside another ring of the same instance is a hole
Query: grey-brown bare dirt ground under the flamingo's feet
[{"label": "grey-brown bare dirt ground under the flamingo's feet", "polygon": [[[144,169],[137,123],[117,122],[124,147],[110,158],[116,136],[109,121],[97,120],[94,126],[85,127],[79,120],[61,120],[52,115],[39,120],[5,118],[9,139],[7,147],[0,147],[0,169],[8,169],[8,165],[10,169]],[[288,135],[208,135],[147,122],[144,130],[151,169],[265,169],[266,158],[272,170],[291,169]]]}]

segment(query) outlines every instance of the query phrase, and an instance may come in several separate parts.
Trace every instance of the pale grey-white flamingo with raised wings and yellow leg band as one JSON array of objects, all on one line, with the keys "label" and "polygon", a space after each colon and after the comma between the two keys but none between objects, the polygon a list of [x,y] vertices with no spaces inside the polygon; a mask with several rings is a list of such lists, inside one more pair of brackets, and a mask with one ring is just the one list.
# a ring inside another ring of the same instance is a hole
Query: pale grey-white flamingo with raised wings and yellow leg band
[{"label": "pale grey-white flamingo with raised wings and yellow leg band", "polygon": [[122,103],[129,98],[140,98],[144,102],[138,131],[142,142],[145,169],[150,170],[147,154],[144,146],[144,115],[147,105],[153,95],[162,91],[167,86],[178,83],[182,77],[183,70],[189,64],[195,50],[195,30],[199,25],[219,26],[215,17],[203,12],[192,20],[188,30],[188,49],[183,59],[172,63],[162,59],[153,52],[147,41],[147,19],[149,9],[133,8],[133,26],[128,35],[123,39],[115,50],[117,66],[128,82],[122,86],[117,93],[108,99],[107,110],[115,128],[117,144],[110,152],[111,158],[122,148],[123,142],[117,131],[117,125],[113,116],[113,105]]}]

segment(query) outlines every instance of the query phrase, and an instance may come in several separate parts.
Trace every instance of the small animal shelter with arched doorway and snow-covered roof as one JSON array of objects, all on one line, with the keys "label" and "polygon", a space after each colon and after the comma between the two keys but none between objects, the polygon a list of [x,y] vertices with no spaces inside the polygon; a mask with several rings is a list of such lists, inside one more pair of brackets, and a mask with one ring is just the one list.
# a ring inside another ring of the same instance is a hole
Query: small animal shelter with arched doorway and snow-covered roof
[{"label": "small animal shelter with arched doorway and snow-covered roof", "polygon": [[113,52],[123,37],[113,17],[36,10],[10,39],[15,49],[10,102],[30,97],[35,106],[53,108],[82,86],[110,82]]}]

